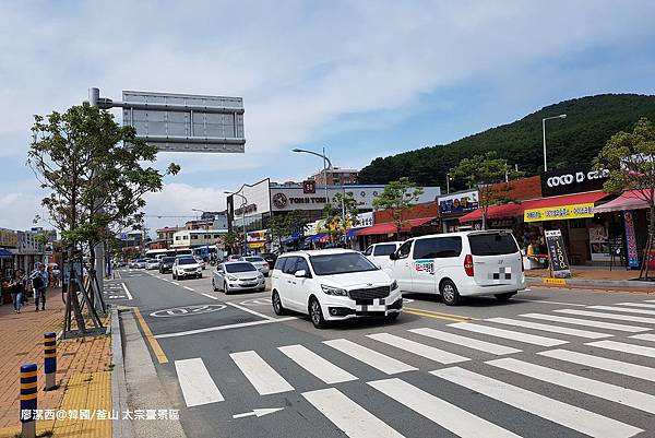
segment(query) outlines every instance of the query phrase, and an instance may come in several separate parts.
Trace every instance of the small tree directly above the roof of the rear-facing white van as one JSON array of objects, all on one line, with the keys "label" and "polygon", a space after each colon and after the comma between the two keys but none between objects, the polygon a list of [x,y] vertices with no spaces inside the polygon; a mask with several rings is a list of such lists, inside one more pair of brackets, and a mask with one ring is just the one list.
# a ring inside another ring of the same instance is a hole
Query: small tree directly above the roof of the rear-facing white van
[{"label": "small tree directly above the roof of the rear-facing white van", "polygon": [[498,182],[522,175],[522,173],[515,171],[505,159],[499,158],[495,152],[464,158],[450,170],[450,174],[455,179],[465,180],[469,189],[478,190],[483,229],[487,229],[487,215],[491,205],[514,201],[510,197],[511,186]]}]

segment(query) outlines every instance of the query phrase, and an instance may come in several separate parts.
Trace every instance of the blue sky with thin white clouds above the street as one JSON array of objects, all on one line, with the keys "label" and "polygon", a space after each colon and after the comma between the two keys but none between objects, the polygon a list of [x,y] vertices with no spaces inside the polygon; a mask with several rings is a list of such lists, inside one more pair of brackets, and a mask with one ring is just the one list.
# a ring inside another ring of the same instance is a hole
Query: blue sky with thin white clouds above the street
[{"label": "blue sky with thin white clouds above the street", "polygon": [[24,166],[32,115],[90,86],[243,96],[246,154],[159,156],[182,173],[146,211],[186,215],[321,166],[296,146],[361,167],[568,98],[654,94],[653,16],[647,1],[5,1],[0,226],[29,227],[45,194]]}]

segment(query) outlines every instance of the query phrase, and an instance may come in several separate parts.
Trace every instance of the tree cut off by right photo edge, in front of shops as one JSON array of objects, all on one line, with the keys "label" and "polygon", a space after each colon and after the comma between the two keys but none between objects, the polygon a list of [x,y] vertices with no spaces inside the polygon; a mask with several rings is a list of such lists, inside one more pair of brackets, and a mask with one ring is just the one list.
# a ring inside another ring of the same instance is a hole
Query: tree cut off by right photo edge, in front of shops
[{"label": "tree cut off by right photo edge, in front of shops", "polygon": [[620,131],[605,144],[594,163],[598,170],[609,170],[604,190],[631,193],[648,204],[651,223],[640,271],[648,279],[648,258],[655,245],[655,126],[642,117],[632,132]]}]

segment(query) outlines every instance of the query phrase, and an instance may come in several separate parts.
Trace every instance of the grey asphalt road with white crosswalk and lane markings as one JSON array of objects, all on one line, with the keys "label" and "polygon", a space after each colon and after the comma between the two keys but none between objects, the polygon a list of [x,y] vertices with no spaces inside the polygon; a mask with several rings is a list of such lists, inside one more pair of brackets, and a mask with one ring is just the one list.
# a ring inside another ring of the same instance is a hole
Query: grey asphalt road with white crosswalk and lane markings
[{"label": "grey asphalt road with white crosswalk and lane markings", "polygon": [[652,295],[413,295],[394,323],[319,331],[270,292],[213,292],[210,269],[120,274],[107,299],[139,308],[189,437],[655,436]]}]

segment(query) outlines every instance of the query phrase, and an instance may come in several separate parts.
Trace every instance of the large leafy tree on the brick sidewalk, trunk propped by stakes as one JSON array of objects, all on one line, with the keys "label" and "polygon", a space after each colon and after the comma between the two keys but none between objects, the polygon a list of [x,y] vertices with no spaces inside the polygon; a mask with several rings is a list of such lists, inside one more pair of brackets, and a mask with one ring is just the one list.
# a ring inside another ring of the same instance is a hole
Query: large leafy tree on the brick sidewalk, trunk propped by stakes
[{"label": "large leafy tree on the brick sidewalk, trunk propped by stakes", "polygon": [[[108,238],[108,229],[139,223],[144,194],[162,190],[164,176],[179,171],[175,164],[165,173],[143,167],[155,161],[156,147],[136,139],[134,128],[120,127],[110,113],[86,104],[63,114],[35,116],[27,164],[49,191],[41,200],[46,221],[61,232],[71,265],[81,263],[81,250],[88,248],[93,268],[93,248]],[[93,301],[84,288],[78,291],[75,280],[71,270],[64,330],[71,329],[72,310],[79,329],[85,331],[78,293]],[[102,303],[102,294],[98,299]],[[93,316],[93,306],[88,309]]]}]

